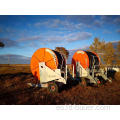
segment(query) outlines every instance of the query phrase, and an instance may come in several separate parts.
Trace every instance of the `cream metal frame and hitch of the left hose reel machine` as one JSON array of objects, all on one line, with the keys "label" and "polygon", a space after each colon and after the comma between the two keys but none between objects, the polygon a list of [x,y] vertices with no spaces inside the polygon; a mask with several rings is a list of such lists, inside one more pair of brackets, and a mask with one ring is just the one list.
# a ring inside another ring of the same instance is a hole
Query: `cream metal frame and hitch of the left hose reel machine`
[{"label": "cream metal frame and hitch of the left hose reel machine", "polygon": [[32,87],[48,87],[49,82],[59,82],[66,84],[67,83],[67,65],[65,66],[64,77],[61,76],[61,70],[55,69],[52,70],[45,65],[45,62],[39,62],[39,75],[40,83],[32,84],[28,83]]}]

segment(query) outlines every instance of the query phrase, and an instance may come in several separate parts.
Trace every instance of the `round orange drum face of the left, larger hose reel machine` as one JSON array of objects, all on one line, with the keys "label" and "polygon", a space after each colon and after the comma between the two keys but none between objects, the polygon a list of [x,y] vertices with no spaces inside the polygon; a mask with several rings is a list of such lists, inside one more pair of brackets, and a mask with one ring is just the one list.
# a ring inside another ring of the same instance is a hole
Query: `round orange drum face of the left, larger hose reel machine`
[{"label": "round orange drum face of the left, larger hose reel machine", "polygon": [[53,50],[49,48],[36,50],[31,58],[30,68],[33,76],[38,80],[40,80],[39,62],[45,62],[45,65],[52,70],[58,67],[58,58]]}]

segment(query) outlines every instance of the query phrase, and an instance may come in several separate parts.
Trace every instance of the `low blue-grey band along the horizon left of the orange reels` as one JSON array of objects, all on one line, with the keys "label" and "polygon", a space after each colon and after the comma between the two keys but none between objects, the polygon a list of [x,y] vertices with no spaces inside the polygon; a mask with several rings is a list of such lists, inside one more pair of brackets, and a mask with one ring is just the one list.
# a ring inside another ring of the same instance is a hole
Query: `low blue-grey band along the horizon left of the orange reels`
[{"label": "low blue-grey band along the horizon left of the orange reels", "polygon": [[14,54],[0,55],[0,64],[30,64],[30,57]]}]

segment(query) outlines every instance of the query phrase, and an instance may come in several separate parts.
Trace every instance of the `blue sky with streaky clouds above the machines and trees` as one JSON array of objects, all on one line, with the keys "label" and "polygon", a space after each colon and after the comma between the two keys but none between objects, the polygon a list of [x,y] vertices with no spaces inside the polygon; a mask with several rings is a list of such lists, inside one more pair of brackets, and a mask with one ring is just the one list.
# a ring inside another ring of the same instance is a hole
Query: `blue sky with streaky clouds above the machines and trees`
[{"label": "blue sky with streaky clouds above the machines and trees", "polygon": [[85,48],[95,37],[120,40],[120,16],[0,15],[0,54],[31,57],[38,48]]}]

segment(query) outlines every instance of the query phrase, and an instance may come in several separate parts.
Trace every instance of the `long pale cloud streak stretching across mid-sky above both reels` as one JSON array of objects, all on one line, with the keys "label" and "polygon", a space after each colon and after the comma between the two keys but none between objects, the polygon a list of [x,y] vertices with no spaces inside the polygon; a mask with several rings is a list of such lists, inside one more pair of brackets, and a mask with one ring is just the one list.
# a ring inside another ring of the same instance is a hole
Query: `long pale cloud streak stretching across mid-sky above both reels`
[{"label": "long pale cloud streak stretching across mid-sky above both reels", "polygon": [[32,36],[19,39],[19,42],[34,42],[34,44],[61,44],[69,43],[81,40],[88,40],[92,37],[89,32],[73,32],[65,35],[44,35],[44,36]]}]

